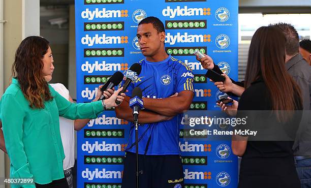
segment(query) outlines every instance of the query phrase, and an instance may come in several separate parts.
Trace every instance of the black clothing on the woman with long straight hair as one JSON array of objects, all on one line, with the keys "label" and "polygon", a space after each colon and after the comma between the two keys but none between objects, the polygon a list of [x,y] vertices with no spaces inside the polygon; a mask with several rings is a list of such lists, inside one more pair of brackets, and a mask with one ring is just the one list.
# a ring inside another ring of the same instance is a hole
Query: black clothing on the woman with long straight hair
[{"label": "black clothing on the woman with long straight hair", "polygon": [[[297,104],[299,107],[296,110],[301,110],[299,99]],[[244,110],[256,110],[256,112],[272,110],[271,98],[262,80],[252,83],[243,92],[239,101],[238,115]],[[264,119],[264,121],[268,120],[270,119]],[[265,126],[265,124],[261,125]],[[298,124],[293,127],[298,127]],[[293,141],[247,141],[240,166],[238,187],[300,187],[294,166],[292,145]]]}]

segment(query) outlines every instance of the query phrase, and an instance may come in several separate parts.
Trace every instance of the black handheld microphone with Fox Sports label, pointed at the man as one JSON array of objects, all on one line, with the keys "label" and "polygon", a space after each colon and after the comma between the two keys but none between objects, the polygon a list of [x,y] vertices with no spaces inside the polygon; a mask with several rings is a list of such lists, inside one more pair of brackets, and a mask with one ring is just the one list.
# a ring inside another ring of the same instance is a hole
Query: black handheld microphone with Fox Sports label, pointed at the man
[{"label": "black handheld microphone with Fox Sports label, pointed at the man", "polygon": [[[123,89],[119,92],[118,95],[121,95],[121,93],[125,93],[127,91],[127,88],[129,87],[131,82],[136,82],[138,79],[138,75],[141,72],[141,65],[138,63],[133,64],[129,70],[125,71],[124,76],[127,77],[126,81],[122,85]],[[115,101],[117,105],[120,104],[119,101]]]}]

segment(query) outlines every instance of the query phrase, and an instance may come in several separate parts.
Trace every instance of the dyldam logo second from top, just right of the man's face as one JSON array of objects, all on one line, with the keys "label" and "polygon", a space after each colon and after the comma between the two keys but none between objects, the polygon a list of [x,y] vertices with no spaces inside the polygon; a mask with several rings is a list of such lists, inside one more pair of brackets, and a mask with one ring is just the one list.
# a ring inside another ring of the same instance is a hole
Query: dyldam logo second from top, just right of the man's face
[{"label": "dyldam logo second from top, just right of the man's face", "polygon": [[174,45],[175,43],[202,43],[210,42],[211,40],[208,40],[210,37],[210,35],[189,35],[188,33],[172,35],[171,33],[167,33],[165,42],[170,45]]}]

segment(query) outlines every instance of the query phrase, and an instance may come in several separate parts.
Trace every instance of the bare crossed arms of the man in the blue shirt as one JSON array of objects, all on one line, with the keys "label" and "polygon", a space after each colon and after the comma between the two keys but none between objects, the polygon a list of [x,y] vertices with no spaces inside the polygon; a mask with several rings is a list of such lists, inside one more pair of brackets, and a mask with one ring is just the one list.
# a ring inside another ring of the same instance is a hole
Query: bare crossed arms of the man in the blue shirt
[{"label": "bare crossed arms of the man in the blue shirt", "polygon": [[[172,119],[176,114],[188,110],[193,100],[194,93],[184,90],[176,97],[164,99],[143,98],[144,108],[139,113],[139,123],[152,123]],[[129,107],[130,97],[126,97],[123,103],[115,108],[117,118],[133,122],[132,109]]]}]

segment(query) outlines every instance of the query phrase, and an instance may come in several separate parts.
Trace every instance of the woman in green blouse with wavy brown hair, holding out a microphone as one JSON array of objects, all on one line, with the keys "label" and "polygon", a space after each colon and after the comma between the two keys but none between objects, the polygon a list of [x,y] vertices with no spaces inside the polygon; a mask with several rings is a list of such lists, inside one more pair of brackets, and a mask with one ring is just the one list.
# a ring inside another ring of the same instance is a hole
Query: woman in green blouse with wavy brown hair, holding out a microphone
[{"label": "woman in green blouse with wavy brown hair, holding out a microphone", "polygon": [[21,42],[12,68],[16,77],[0,102],[1,118],[11,161],[10,178],[34,182],[11,183],[11,187],[68,187],[58,117],[97,118],[105,108],[116,107],[115,100],[124,99],[117,95],[120,88],[104,101],[70,103],[45,81],[44,76],[53,69],[47,40],[32,36]]}]

